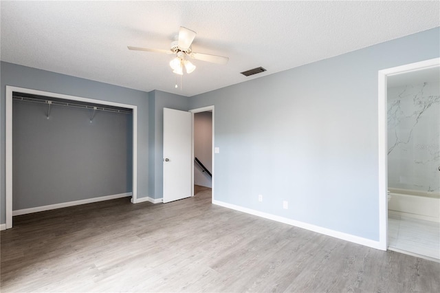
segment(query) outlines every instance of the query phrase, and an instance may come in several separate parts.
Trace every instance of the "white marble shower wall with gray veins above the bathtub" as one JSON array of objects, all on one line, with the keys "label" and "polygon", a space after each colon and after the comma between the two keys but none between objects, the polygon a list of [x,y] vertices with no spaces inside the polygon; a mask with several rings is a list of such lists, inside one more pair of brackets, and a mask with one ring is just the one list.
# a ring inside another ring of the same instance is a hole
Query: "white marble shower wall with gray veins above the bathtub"
[{"label": "white marble shower wall with gray veins above the bathtub", "polygon": [[388,88],[388,187],[440,192],[440,84]]}]

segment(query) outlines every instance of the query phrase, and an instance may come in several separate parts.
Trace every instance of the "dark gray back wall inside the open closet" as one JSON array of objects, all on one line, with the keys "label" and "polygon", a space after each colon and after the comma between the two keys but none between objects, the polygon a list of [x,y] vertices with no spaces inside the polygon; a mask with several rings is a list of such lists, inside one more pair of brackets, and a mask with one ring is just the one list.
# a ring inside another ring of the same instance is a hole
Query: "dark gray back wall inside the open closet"
[{"label": "dark gray back wall inside the open closet", "polygon": [[132,191],[133,115],[14,100],[13,210]]}]

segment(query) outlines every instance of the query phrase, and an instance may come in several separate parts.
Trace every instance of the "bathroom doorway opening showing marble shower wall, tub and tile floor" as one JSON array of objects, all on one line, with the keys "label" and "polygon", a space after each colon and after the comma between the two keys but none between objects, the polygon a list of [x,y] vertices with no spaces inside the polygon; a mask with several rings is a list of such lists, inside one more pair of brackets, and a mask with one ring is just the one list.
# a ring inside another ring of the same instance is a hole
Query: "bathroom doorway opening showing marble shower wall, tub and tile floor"
[{"label": "bathroom doorway opening showing marble shower wall, tub and tile floor", "polygon": [[440,67],[418,65],[385,75],[386,241],[440,261]]}]

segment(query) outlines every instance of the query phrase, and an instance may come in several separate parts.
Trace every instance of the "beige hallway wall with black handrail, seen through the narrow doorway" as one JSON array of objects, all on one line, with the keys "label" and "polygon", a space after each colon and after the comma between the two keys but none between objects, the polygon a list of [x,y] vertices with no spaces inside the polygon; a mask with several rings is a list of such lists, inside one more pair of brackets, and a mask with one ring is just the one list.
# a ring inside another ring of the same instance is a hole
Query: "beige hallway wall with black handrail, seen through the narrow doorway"
[{"label": "beige hallway wall with black handrail, seen through the narrow doorway", "polygon": [[[212,173],[212,112],[194,114],[194,155]],[[211,177],[196,162],[194,184],[212,187]]]}]

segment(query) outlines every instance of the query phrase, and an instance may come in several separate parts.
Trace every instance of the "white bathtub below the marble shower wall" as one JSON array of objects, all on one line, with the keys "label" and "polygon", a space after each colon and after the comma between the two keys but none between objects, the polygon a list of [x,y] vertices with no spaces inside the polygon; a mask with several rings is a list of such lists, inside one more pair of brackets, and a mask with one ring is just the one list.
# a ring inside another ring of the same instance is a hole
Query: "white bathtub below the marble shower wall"
[{"label": "white bathtub below the marble shower wall", "polygon": [[440,193],[388,188],[388,213],[440,222]]}]

